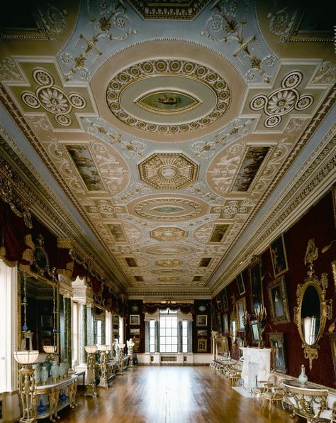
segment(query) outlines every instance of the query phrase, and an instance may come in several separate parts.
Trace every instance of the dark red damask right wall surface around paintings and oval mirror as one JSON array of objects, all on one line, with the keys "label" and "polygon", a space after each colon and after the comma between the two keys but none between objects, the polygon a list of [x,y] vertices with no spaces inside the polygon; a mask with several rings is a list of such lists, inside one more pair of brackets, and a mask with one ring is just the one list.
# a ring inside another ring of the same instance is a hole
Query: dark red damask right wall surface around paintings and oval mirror
[{"label": "dark red damask right wall surface around paintings and oval mirror", "polygon": [[[315,246],[318,247],[318,259],[314,263],[315,274],[320,278],[321,273],[328,274],[329,285],[327,287],[326,299],[333,300],[332,319],[327,321],[325,325],[325,334],[320,339],[318,350],[318,358],[313,361],[313,368],[309,370],[309,362],[304,358],[303,348],[301,348],[301,338],[298,334],[296,324],[293,322],[293,309],[296,307],[296,287],[302,284],[307,276],[307,268],[304,264],[304,257],[306,254],[307,243],[310,239],[315,240]],[[264,265],[264,305],[267,309],[267,328],[266,333],[272,331],[279,331],[284,333],[284,343],[286,347],[287,368],[289,375],[298,376],[300,373],[301,364],[306,366],[306,374],[308,379],[315,383],[334,387],[334,369],[332,366],[332,355],[330,349],[329,339],[326,336],[327,328],[335,319],[336,311],[336,285],[332,277],[332,260],[336,260],[336,242],[332,244],[331,248],[325,253],[321,253],[324,246],[327,246],[332,240],[336,239],[335,228],[335,212],[332,205],[332,193],[328,192],[320,201],[311,207],[308,212],[301,217],[296,224],[284,233],[284,241],[286,245],[286,254],[289,265],[289,270],[284,273],[286,280],[286,290],[289,300],[289,312],[291,322],[287,324],[274,325],[270,319],[269,298],[267,286],[269,282],[274,280],[274,273],[271,263],[271,255],[269,249],[262,253],[262,262]],[[250,268],[247,268],[242,273],[246,294],[241,297],[246,297],[247,311],[251,313],[251,290],[250,290]],[[227,287],[229,315],[233,312],[232,296],[239,300],[241,297],[237,290],[237,281],[233,280]],[[270,327],[270,326],[271,327]],[[269,339],[266,336],[267,346],[269,346]],[[233,356],[237,351],[232,349]]]}]

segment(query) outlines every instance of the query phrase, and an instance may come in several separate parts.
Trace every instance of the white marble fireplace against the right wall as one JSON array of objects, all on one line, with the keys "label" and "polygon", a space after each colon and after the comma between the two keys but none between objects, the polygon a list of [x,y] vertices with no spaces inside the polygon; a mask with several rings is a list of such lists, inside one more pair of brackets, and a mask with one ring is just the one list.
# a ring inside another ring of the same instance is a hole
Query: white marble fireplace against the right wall
[{"label": "white marble fireplace against the right wall", "polygon": [[241,347],[244,362],[242,364],[242,379],[244,388],[250,390],[257,380],[267,380],[271,371],[271,348]]}]

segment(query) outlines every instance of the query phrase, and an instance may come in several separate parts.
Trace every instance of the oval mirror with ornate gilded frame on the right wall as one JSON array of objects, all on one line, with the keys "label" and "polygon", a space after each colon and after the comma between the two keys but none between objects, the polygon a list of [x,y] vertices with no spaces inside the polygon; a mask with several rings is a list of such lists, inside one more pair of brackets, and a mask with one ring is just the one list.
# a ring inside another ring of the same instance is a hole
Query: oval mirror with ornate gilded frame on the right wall
[{"label": "oval mirror with ornate gilded frame on the right wall", "polygon": [[318,343],[327,319],[332,317],[331,300],[325,300],[328,281],[327,274],[323,273],[319,279],[313,270],[313,261],[318,258],[318,248],[313,240],[308,242],[306,252],[306,265],[308,277],[303,285],[298,285],[296,300],[298,306],[294,309],[294,319],[301,336],[305,358],[309,360],[310,370],[313,360],[318,358]]}]

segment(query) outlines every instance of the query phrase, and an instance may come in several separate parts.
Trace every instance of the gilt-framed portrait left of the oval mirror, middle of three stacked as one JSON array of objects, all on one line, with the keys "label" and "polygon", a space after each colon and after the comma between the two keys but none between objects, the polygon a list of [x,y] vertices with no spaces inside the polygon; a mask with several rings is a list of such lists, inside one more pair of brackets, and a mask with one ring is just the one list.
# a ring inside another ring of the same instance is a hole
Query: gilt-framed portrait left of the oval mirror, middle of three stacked
[{"label": "gilt-framed portrait left of the oval mirror, middle of three stacked", "polygon": [[291,322],[284,275],[270,282],[267,289],[271,308],[271,322],[274,324]]}]

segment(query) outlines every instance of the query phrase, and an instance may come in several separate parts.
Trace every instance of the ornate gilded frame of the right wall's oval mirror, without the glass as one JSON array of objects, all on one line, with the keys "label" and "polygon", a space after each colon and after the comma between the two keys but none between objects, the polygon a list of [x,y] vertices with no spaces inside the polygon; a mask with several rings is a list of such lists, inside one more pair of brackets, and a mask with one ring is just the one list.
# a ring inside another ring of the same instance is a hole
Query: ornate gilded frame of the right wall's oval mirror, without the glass
[{"label": "ornate gilded frame of the right wall's oval mirror, without the glass", "polygon": [[[313,256],[310,254],[308,256],[308,250],[310,252],[313,251]],[[308,257],[308,259],[307,259]],[[294,307],[294,322],[298,327],[298,333],[300,334],[301,341],[302,341],[302,348],[304,350],[304,356],[306,359],[309,360],[309,368],[312,370],[313,368],[313,360],[318,358],[318,345],[321,337],[323,336],[323,332],[325,330],[325,324],[327,319],[332,318],[332,300],[325,300],[325,294],[327,290],[328,280],[327,280],[327,273],[322,273],[320,279],[317,275],[315,275],[313,270],[313,261],[318,258],[318,248],[315,247],[315,243],[313,240],[308,241],[308,247],[306,252],[306,264],[308,265],[308,277],[305,279],[303,284],[298,284],[296,287],[296,302],[297,307]],[[301,324],[301,312],[302,312],[302,303],[303,297],[306,293],[308,287],[313,286],[315,290],[318,292],[318,297],[320,298],[320,328],[318,331],[318,335],[316,336],[316,340],[314,344],[309,345],[305,341],[302,331],[302,324]]]}]

